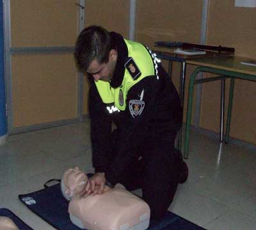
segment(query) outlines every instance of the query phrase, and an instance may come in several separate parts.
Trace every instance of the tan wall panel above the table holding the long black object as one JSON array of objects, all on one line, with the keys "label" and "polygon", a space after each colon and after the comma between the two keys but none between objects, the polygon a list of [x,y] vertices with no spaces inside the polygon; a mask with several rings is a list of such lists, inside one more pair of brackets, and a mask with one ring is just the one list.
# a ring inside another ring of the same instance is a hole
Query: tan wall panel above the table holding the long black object
[{"label": "tan wall panel above the table holding the long black object", "polygon": [[199,42],[202,1],[137,1],[136,40]]}]

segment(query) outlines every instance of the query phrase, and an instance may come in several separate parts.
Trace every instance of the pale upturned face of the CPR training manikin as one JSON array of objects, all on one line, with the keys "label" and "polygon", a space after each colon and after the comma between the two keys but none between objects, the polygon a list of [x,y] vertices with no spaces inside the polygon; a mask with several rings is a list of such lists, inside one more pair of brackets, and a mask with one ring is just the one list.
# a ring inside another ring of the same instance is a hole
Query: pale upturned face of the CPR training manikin
[{"label": "pale upturned face of the CPR training manikin", "polygon": [[87,181],[88,178],[86,174],[78,167],[68,169],[64,176],[66,193],[72,194],[73,192],[74,194],[78,194],[79,192],[82,192]]}]

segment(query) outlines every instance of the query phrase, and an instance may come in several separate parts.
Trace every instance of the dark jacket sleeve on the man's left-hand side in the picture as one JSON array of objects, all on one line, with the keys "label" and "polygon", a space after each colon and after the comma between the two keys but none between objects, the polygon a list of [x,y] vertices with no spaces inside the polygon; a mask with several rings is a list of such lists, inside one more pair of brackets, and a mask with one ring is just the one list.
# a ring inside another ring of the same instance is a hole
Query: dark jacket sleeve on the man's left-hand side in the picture
[{"label": "dark jacket sleeve on the man's left-hand side in the picture", "polygon": [[[90,79],[90,77],[89,77]],[[89,112],[91,121],[92,162],[95,172],[105,172],[111,153],[111,116],[106,112],[94,81],[90,80]]]}]

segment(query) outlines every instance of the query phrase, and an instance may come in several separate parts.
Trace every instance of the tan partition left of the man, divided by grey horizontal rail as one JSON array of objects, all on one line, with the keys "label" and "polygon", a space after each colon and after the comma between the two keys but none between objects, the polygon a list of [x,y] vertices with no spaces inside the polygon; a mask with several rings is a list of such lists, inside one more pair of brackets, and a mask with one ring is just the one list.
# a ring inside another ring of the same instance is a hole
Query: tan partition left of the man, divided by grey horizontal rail
[{"label": "tan partition left of the man, divided by grey horizontal rail", "polygon": [[[12,0],[10,34],[10,47],[16,50],[74,46],[77,6],[69,0],[36,4]],[[14,52],[10,65],[11,130],[77,118],[77,69],[72,51]]]}]

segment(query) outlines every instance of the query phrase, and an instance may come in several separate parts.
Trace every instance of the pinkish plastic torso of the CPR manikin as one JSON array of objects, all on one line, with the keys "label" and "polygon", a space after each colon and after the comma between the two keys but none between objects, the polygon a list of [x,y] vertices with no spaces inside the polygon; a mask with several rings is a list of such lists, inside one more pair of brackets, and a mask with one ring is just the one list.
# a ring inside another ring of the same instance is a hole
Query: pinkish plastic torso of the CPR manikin
[{"label": "pinkish plastic torso of the CPR manikin", "polygon": [[118,186],[102,195],[72,198],[68,212],[72,222],[78,217],[81,228],[92,230],[147,229],[150,217],[145,201]]}]

